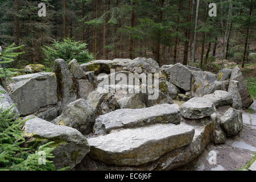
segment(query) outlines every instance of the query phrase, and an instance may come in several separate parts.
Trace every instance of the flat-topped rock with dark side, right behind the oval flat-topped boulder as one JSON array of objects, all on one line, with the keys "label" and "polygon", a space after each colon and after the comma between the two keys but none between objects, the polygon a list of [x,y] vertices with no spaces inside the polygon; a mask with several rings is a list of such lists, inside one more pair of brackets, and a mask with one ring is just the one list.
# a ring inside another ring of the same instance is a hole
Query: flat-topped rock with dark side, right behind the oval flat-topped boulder
[{"label": "flat-topped rock with dark side, right behind the oval flat-topped boulder", "polygon": [[233,104],[233,98],[229,92],[224,90],[216,90],[212,94],[207,94],[203,98],[208,99],[209,101],[213,102],[216,107],[226,106]]}]

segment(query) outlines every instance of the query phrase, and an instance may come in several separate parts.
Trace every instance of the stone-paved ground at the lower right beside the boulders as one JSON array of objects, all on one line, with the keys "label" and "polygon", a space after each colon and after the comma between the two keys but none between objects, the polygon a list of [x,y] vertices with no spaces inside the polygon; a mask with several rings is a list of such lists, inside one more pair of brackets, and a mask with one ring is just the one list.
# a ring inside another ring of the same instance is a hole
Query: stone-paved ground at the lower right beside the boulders
[{"label": "stone-paved ground at the lower right beside the boulders", "polygon": [[[237,171],[248,169],[256,159],[256,100],[251,108],[254,110],[253,113],[242,111],[243,130],[239,135],[228,138],[225,144],[209,144],[199,158],[179,170]],[[209,163],[213,151],[217,154],[216,164]]]}]

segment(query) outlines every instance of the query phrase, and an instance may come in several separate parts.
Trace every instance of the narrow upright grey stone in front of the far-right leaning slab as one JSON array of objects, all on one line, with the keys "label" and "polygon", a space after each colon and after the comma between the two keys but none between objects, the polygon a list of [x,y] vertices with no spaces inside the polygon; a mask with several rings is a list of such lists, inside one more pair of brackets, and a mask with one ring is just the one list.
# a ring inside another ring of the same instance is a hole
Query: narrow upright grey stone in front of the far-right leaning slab
[{"label": "narrow upright grey stone in front of the far-right leaning slab", "polygon": [[233,107],[234,109],[242,109],[242,99],[240,97],[239,89],[238,89],[238,81],[232,80],[229,84],[228,92],[233,98]]}]

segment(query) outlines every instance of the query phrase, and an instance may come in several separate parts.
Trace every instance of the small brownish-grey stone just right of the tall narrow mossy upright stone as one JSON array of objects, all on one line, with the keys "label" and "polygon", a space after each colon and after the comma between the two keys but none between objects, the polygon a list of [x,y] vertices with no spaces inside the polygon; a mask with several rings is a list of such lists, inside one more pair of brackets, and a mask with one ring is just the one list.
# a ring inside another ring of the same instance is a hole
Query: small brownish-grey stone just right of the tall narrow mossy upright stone
[{"label": "small brownish-grey stone just right of the tall narrow mossy upright stone", "polygon": [[89,94],[94,91],[94,86],[87,80],[78,80],[78,98],[87,99]]}]

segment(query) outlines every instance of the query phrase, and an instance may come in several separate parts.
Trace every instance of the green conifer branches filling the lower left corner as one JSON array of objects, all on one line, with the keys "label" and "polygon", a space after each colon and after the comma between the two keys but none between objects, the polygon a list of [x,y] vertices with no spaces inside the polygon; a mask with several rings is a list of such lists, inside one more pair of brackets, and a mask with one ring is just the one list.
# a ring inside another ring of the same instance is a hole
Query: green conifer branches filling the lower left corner
[{"label": "green conifer branches filling the lower left corner", "polygon": [[[22,126],[26,120],[18,118],[13,113],[13,107],[0,110],[0,171],[51,171],[55,170],[50,160],[54,156],[54,147],[49,147],[54,142],[49,142],[38,148],[24,148],[26,142]],[[42,154],[46,163],[40,163]]]}]

